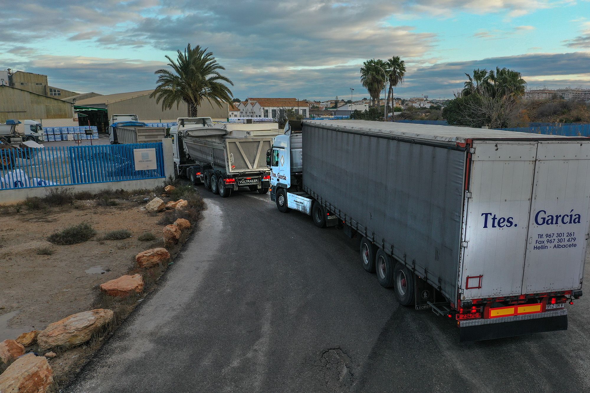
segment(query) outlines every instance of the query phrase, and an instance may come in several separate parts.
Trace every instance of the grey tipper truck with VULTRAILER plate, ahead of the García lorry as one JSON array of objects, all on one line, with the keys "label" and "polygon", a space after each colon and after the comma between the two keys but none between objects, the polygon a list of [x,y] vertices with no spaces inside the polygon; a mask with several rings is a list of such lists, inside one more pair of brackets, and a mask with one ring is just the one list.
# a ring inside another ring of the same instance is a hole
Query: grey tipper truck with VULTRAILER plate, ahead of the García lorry
[{"label": "grey tipper truck with VULTRAILER plate, ahead of the Garc\u00eda lorry", "polygon": [[238,187],[266,194],[270,172],[265,155],[273,137],[232,136],[235,130],[214,126],[210,117],[181,117],[170,128],[176,175],[186,174],[193,184],[223,198]]}]

